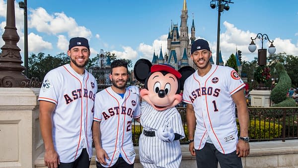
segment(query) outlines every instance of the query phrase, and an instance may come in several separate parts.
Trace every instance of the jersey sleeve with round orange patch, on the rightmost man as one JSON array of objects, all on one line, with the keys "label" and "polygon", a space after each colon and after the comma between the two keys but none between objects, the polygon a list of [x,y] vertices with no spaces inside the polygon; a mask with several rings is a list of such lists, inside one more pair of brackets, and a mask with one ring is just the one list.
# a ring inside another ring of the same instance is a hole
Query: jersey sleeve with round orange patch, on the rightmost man
[{"label": "jersey sleeve with round orange patch, on the rightmost man", "polygon": [[244,82],[234,69],[230,68],[227,76],[227,88],[231,95],[245,86]]}]

